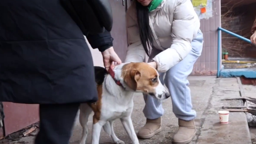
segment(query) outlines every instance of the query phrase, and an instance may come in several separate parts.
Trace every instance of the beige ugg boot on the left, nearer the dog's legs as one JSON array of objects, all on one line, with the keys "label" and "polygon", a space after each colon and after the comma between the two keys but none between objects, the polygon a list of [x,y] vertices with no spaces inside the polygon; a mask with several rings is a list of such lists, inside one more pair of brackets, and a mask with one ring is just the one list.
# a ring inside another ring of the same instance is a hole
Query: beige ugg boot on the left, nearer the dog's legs
[{"label": "beige ugg boot on the left, nearer the dog's legs", "polygon": [[139,130],[137,136],[141,139],[148,139],[160,133],[161,129],[161,117],[157,119],[147,119],[145,126]]}]

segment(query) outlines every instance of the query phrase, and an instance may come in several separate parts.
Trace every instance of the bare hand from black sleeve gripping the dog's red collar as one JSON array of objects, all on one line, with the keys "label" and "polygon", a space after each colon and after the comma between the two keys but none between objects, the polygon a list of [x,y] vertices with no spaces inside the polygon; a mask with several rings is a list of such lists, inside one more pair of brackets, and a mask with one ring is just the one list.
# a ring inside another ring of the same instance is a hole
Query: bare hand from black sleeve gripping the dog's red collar
[{"label": "bare hand from black sleeve gripping the dog's red collar", "polygon": [[109,67],[111,66],[112,62],[116,62],[117,65],[121,64],[122,61],[121,59],[118,57],[118,55],[115,53],[114,48],[110,47],[108,49],[106,49],[105,51],[103,51],[102,53],[102,57],[103,57],[103,63],[105,68],[108,70]]}]

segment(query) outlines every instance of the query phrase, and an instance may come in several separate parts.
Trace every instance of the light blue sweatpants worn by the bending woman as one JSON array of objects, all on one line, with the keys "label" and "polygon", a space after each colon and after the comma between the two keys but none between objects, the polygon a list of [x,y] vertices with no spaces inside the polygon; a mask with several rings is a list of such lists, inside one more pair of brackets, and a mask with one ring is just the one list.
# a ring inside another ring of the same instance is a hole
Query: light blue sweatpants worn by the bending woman
[{"label": "light blue sweatpants worn by the bending woman", "polygon": [[[203,34],[198,31],[197,37],[191,42],[192,50],[182,61],[166,72],[160,74],[160,81],[165,83],[171,94],[173,113],[179,119],[190,121],[196,117],[196,112],[192,110],[191,94],[187,76],[192,72],[193,65],[202,53]],[[160,53],[160,50],[152,49],[152,56]],[[151,61],[151,60],[149,60]],[[163,107],[160,101],[150,95],[144,95],[145,107],[143,113],[148,119],[156,119],[163,115]]]}]

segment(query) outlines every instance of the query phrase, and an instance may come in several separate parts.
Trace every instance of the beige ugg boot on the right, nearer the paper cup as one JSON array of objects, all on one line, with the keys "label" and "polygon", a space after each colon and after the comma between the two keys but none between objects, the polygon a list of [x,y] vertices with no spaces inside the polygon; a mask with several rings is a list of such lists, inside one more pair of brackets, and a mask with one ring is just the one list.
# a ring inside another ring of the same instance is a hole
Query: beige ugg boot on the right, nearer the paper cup
[{"label": "beige ugg boot on the right, nearer the paper cup", "polygon": [[179,119],[179,130],[174,135],[174,144],[188,144],[195,137],[195,122],[194,119],[191,121],[184,121]]}]

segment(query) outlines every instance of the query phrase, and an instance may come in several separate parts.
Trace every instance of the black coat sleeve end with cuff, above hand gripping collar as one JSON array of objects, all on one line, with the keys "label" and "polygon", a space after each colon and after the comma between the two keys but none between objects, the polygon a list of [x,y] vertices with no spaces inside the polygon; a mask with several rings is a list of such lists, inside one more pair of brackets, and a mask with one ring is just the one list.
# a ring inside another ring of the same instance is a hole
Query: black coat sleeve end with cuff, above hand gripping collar
[{"label": "black coat sleeve end with cuff, above hand gripping collar", "polygon": [[99,34],[88,34],[86,36],[88,42],[90,43],[93,49],[99,49],[100,52],[105,51],[106,49],[113,46],[113,38],[109,31],[104,31]]}]

